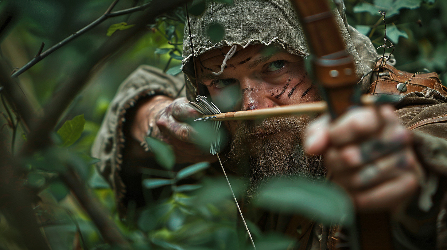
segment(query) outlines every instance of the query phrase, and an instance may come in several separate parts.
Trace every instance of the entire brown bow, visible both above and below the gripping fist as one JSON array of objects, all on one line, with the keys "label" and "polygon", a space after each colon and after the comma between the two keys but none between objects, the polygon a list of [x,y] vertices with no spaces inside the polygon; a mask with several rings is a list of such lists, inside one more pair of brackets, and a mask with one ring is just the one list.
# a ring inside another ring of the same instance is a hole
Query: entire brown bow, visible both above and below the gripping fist
[{"label": "entire brown bow, visible both above and below the gripping fist", "polygon": [[[308,45],[315,56],[314,79],[320,85],[329,112],[335,119],[354,104],[354,89],[359,81],[355,74],[354,60],[345,51],[345,43],[327,0],[291,1],[303,24]],[[362,250],[392,249],[387,213],[358,214],[357,218],[359,242],[351,234],[350,249],[356,249],[358,245]]]}]

